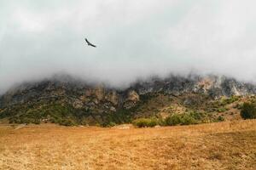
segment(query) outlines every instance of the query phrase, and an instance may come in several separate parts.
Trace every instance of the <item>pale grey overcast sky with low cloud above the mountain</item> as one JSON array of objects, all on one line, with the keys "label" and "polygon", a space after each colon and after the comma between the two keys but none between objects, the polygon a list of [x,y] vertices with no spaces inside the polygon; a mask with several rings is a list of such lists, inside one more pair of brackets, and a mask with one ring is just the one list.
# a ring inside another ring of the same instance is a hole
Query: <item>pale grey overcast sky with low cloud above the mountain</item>
[{"label": "pale grey overcast sky with low cloud above the mountain", "polygon": [[0,93],[58,73],[113,87],[191,71],[253,82],[255,6],[254,0],[1,0]]}]

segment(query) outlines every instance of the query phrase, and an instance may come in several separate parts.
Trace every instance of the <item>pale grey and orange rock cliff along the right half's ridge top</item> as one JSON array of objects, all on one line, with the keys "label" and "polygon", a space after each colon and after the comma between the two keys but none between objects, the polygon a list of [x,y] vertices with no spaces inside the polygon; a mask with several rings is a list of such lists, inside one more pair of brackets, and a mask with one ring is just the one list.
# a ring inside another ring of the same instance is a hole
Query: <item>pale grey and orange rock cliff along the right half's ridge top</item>
[{"label": "pale grey and orange rock cliff along the right half's ridge top", "polygon": [[179,95],[193,92],[208,94],[213,98],[256,93],[256,86],[251,83],[238,82],[234,78],[217,76],[172,76],[164,80],[155,78],[148,82],[138,82],[132,88],[135,88],[139,94],[164,92],[166,94]]}]

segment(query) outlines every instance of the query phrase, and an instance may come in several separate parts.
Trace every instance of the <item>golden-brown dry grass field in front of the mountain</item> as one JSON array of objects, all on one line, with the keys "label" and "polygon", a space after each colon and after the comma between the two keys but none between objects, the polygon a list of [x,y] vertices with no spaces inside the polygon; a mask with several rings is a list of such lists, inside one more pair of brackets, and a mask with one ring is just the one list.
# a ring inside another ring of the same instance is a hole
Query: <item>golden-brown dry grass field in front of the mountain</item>
[{"label": "golden-brown dry grass field in front of the mountain", "polygon": [[0,169],[256,169],[256,120],[154,128],[1,126]]}]

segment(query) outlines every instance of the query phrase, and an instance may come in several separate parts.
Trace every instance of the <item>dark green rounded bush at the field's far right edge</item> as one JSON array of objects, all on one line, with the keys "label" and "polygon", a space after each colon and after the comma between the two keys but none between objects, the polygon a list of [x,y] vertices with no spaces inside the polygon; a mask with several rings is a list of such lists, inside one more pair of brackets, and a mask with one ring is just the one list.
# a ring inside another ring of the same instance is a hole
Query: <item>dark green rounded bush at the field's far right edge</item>
[{"label": "dark green rounded bush at the field's far right edge", "polygon": [[256,118],[256,108],[255,105],[251,103],[244,103],[241,106],[241,117],[243,119],[255,119]]}]

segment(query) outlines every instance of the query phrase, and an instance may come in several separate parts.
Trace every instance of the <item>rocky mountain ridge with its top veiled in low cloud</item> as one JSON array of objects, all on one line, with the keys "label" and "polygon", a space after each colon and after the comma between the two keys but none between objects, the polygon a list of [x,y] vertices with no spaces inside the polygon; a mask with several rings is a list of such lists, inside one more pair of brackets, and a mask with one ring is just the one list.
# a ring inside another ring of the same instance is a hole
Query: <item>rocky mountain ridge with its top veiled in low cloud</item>
[{"label": "rocky mountain ridge with its top veiled in low cloud", "polygon": [[200,112],[212,122],[219,116],[239,118],[239,105],[254,99],[253,94],[255,85],[230,77],[152,77],[119,89],[57,75],[9,89],[0,97],[0,119],[107,126],[138,117],[165,119],[176,113]]}]

